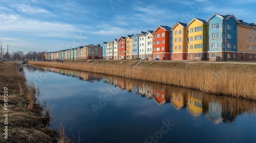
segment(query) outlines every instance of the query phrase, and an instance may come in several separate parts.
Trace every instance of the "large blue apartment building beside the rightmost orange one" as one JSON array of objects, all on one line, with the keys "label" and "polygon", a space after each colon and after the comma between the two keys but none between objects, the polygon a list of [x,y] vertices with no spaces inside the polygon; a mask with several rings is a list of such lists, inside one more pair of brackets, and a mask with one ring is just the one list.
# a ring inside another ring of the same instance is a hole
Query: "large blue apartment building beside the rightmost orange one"
[{"label": "large blue apartment building beside the rightmost orange one", "polygon": [[236,60],[238,19],[234,15],[212,15],[209,23],[210,61]]}]

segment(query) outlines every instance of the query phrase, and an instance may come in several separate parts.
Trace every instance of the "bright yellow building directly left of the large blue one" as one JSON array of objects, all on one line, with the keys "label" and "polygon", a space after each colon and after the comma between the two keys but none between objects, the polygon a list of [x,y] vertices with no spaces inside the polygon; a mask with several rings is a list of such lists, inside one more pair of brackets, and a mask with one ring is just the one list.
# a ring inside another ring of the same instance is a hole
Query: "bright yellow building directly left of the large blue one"
[{"label": "bright yellow building directly left of the large blue one", "polygon": [[188,60],[207,60],[209,25],[206,20],[194,18],[187,24]]}]

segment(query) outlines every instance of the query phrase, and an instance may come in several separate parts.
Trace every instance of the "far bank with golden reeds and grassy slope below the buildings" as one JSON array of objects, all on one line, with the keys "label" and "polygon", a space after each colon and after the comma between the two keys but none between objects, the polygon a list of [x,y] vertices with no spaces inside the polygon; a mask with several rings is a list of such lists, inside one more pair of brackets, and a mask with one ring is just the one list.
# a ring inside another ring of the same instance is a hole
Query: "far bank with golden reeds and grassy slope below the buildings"
[{"label": "far bank with golden reeds and grassy slope below the buildings", "polygon": [[31,61],[30,64],[52,66],[98,74],[149,81],[256,100],[256,66],[244,64],[140,62],[140,61]]}]

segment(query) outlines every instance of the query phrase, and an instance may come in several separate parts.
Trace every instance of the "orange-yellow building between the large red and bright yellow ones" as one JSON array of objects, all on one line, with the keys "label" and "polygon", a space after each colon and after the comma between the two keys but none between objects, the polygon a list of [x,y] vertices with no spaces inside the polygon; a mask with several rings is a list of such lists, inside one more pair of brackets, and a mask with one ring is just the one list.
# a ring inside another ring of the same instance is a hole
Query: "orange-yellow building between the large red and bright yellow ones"
[{"label": "orange-yellow building between the large red and bright yellow ones", "polygon": [[187,23],[177,22],[173,28],[173,54],[172,60],[187,59],[188,31]]}]

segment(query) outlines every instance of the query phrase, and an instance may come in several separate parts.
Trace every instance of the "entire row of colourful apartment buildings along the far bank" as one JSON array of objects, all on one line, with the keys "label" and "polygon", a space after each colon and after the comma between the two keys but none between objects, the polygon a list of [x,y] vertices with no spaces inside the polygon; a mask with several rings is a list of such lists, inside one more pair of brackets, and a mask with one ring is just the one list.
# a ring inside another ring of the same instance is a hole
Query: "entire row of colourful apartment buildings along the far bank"
[{"label": "entire row of colourful apartment buildings along the far bank", "polygon": [[101,53],[89,54],[88,46],[66,50],[66,57],[60,54],[62,51],[47,53],[45,57],[54,60],[256,60],[256,25],[238,20],[234,15],[214,14],[208,20],[194,18],[189,23],[177,22],[173,27],[158,26],[154,31],[120,36],[103,42],[102,47],[97,45]]}]

